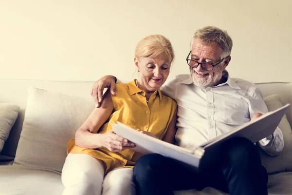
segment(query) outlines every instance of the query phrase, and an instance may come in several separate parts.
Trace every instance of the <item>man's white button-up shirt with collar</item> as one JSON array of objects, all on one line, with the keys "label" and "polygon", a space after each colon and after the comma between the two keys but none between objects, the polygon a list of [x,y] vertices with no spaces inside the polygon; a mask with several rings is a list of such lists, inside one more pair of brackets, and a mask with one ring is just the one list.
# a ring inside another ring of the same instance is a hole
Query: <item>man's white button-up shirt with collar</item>
[{"label": "man's white button-up shirt with collar", "polygon": [[[193,84],[191,75],[179,75],[165,84],[162,91],[178,103],[176,139],[185,148],[193,148],[249,122],[256,113],[267,113],[261,92],[246,80],[230,78],[214,87]],[[269,155],[283,150],[284,141],[277,127],[274,134],[259,141]]]}]

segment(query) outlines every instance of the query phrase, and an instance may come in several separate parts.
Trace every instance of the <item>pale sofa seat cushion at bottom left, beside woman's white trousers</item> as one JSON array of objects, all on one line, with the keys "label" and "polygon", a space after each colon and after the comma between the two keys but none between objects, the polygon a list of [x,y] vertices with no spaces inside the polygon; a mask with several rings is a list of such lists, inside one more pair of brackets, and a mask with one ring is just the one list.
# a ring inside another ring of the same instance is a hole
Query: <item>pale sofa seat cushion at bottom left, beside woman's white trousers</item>
[{"label": "pale sofa seat cushion at bottom left, beside woman's white trousers", "polygon": [[61,174],[16,165],[0,166],[1,195],[62,195]]}]

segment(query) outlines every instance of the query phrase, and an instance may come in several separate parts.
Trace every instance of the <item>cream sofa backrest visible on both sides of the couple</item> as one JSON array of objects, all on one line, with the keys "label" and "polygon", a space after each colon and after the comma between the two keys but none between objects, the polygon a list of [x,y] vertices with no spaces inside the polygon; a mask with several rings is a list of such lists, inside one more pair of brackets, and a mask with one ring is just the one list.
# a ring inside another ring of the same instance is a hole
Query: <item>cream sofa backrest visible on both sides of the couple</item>
[{"label": "cream sofa backrest visible on both sides of the couple", "polygon": [[[28,87],[45,89],[50,92],[67,94],[81,98],[93,99],[90,96],[92,82],[62,82],[62,81],[45,81],[45,80],[24,80],[24,79],[0,79],[0,103],[12,103],[20,106],[18,119],[12,128],[1,156],[12,156],[16,154],[18,140],[24,120]],[[256,84],[262,91],[263,97],[278,94],[282,104],[292,104],[292,83],[260,83]],[[292,125],[292,106],[286,113],[290,125]]]}]

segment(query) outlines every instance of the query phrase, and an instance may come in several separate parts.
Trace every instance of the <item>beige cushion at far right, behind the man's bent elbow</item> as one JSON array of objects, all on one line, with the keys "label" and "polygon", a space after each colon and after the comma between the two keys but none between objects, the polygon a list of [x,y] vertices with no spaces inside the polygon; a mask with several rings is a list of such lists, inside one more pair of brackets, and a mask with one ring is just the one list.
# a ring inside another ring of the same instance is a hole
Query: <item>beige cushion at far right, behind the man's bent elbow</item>
[{"label": "beige cushion at far right, behind the man's bent elbow", "polygon": [[[264,98],[264,101],[269,111],[282,106],[281,99],[276,94]],[[278,156],[269,156],[259,149],[262,164],[267,169],[268,174],[292,171],[292,130],[286,115],[284,115],[278,127],[281,129],[284,137],[283,151]]]}]

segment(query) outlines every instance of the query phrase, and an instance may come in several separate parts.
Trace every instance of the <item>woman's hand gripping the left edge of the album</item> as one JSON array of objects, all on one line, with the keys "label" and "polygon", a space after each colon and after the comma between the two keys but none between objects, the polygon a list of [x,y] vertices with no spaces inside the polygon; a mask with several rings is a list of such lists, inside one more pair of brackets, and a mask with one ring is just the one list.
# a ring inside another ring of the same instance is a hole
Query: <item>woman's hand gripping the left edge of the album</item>
[{"label": "woman's hand gripping the left edge of the album", "polygon": [[120,137],[114,131],[107,132],[101,136],[101,146],[111,152],[121,152],[125,149],[136,147],[135,144],[124,137]]}]

